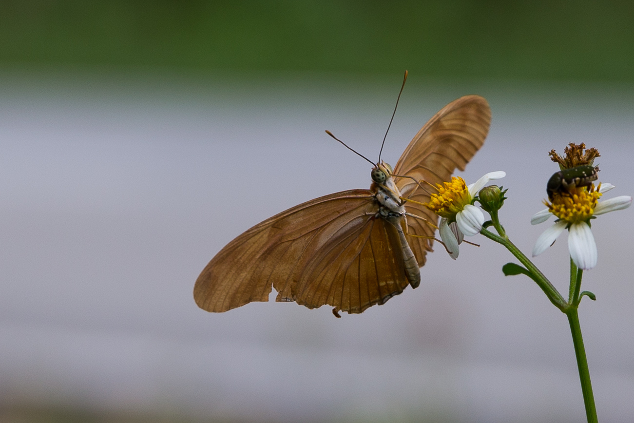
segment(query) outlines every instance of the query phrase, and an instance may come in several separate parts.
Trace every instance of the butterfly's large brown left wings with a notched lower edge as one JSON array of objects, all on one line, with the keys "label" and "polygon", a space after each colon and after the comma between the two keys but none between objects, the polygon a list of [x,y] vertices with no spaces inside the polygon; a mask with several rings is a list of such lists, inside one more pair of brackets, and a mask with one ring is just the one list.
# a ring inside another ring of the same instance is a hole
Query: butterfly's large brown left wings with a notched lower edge
[{"label": "butterfly's large brown left wings with a notched lower edge", "polygon": [[316,198],[250,228],[202,271],[194,298],[207,311],[251,301],[330,304],[361,313],[400,294],[408,284],[398,231],[377,218],[370,190]]}]

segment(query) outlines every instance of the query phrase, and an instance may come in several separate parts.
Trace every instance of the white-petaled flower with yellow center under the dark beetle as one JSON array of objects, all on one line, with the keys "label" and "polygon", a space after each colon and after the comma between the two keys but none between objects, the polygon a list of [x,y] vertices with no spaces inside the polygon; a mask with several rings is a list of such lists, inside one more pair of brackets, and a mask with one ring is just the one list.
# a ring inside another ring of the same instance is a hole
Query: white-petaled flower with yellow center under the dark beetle
[{"label": "white-petaled flower with yellow center under the dark beetle", "polygon": [[605,201],[598,198],[614,188],[614,185],[599,184],[595,190],[585,187],[573,188],[569,195],[554,193],[552,204],[545,202],[548,209],[537,212],[531,218],[531,224],[537,225],[548,220],[550,216],[557,216],[555,224],[541,233],[533,247],[533,257],[546,251],[557,240],[564,230],[568,230],[568,251],[574,264],[581,270],[590,270],[597,265],[597,244],[595,243],[588,222],[593,216],[607,212],[627,209],[632,203],[632,197],[621,195]]}]

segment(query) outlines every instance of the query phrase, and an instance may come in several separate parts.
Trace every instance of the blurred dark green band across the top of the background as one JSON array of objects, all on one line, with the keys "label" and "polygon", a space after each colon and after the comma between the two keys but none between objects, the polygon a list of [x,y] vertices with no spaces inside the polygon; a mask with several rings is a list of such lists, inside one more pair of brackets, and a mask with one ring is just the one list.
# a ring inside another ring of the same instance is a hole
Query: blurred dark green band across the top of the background
[{"label": "blurred dark green band across the top of the background", "polygon": [[0,65],[634,80],[630,1],[0,2]]}]

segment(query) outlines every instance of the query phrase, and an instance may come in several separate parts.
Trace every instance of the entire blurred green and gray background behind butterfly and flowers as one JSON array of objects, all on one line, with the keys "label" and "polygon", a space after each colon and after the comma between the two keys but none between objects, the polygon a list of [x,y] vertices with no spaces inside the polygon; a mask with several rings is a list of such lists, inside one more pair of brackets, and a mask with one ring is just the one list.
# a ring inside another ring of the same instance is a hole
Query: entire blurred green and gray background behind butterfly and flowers
[{"label": "entire blurred green and gray background behind butterfly and flowers", "polygon": [[[512,256],[484,237],[457,261],[437,246],[418,289],[341,319],[273,302],[210,314],[192,290],[250,226],[370,186],[369,164],[324,130],[375,159],[406,68],[382,157],[394,165],[451,100],[485,96],[491,131],[461,176],[507,172],[501,219],[527,254],[552,224],[529,224],[557,171],[552,148],[597,147],[599,180],[617,187],[605,197],[631,195],[629,6],[8,4],[0,422],[583,421],[566,316],[528,278],[503,277]],[[262,9],[299,38],[257,27],[273,25]],[[430,37],[412,16],[480,32]],[[604,422],[634,415],[633,226],[630,210],[594,221],[598,266],[583,280],[597,295],[579,315]],[[535,263],[565,295],[566,235]]]}]

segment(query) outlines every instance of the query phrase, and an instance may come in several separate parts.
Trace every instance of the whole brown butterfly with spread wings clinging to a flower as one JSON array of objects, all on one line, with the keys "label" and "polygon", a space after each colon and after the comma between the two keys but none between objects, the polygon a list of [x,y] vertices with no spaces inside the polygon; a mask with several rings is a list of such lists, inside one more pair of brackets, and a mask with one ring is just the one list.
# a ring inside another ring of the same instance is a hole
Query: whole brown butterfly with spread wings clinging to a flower
[{"label": "whole brown butterfly with spread wings clinging to a flower", "polygon": [[418,181],[441,183],[456,167],[464,170],[490,122],[484,98],[452,101],[418,131],[393,171],[379,159],[369,190],[296,205],[231,241],[200,273],[196,303],[207,311],[227,311],[268,301],[273,286],[275,301],[308,308],[329,304],[337,315],[384,304],[408,283],[416,288],[425,254],[432,251],[435,229],[429,223],[437,224],[437,216],[402,198],[429,202]]}]

